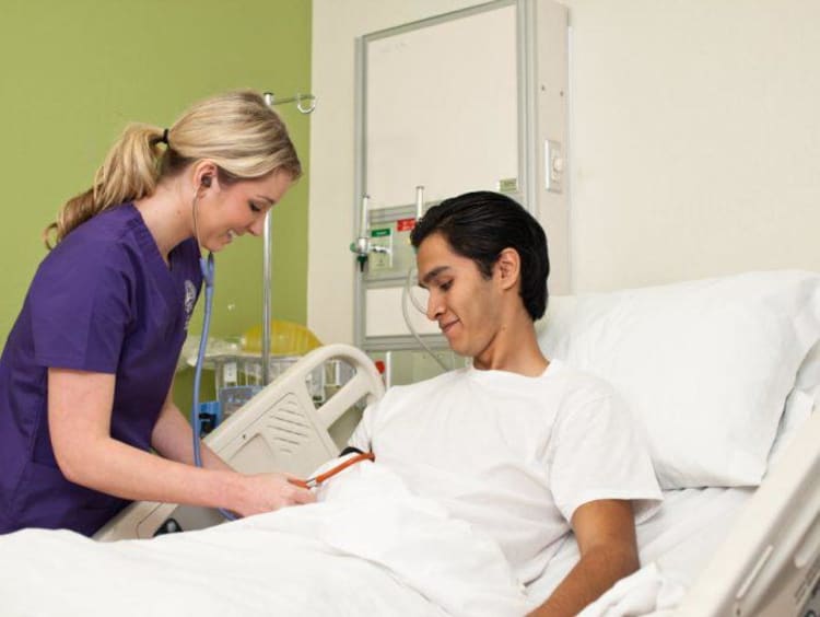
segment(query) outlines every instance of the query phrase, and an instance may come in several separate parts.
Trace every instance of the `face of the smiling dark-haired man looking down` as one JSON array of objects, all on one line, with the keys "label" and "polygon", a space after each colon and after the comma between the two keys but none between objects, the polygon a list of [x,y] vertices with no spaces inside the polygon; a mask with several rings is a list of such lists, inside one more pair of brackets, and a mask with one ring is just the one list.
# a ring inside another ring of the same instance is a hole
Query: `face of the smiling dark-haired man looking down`
[{"label": "face of the smiling dark-haired man looking down", "polygon": [[495,339],[502,298],[493,279],[485,279],[472,259],[455,253],[434,233],[415,256],[419,284],[430,292],[427,318],[438,323],[450,349],[480,357]]}]

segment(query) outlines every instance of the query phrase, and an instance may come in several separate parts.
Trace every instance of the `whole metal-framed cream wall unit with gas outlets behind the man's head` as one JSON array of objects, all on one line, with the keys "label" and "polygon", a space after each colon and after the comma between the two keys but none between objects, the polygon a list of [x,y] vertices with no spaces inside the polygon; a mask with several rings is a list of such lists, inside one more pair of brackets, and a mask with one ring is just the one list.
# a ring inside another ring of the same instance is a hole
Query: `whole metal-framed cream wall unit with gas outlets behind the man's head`
[{"label": "whole metal-framed cream wall unit with gas outlets behind the man's head", "polygon": [[[366,351],[418,347],[401,296],[414,261],[408,222],[420,185],[426,207],[479,189],[522,202],[547,231],[550,292],[567,292],[566,9],[499,0],[367,34],[356,54],[354,200],[359,208],[370,196],[366,235],[390,247],[356,277],[356,344]],[[446,347],[421,324],[431,346]]]}]

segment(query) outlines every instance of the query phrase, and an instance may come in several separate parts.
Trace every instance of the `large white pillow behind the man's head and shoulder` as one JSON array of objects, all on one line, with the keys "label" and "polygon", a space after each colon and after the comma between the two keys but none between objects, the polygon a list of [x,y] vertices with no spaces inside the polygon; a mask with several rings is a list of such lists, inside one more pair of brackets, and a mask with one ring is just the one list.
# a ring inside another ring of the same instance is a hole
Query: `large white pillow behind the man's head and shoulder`
[{"label": "large white pillow behind the man's head and shoulder", "polygon": [[552,298],[537,330],[548,358],[619,391],[663,488],[757,486],[797,370],[820,340],[820,275]]}]

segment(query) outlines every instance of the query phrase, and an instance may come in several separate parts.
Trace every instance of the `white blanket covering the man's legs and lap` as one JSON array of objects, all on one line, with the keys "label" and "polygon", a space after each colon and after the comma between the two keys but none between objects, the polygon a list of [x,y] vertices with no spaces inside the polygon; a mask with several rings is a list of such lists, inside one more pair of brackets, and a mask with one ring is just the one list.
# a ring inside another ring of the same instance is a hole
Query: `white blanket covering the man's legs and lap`
[{"label": "white blanket covering the man's legs and lap", "polygon": [[524,615],[499,546],[378,465],[319,503],[151,540],[0,536],[3,615]]}]

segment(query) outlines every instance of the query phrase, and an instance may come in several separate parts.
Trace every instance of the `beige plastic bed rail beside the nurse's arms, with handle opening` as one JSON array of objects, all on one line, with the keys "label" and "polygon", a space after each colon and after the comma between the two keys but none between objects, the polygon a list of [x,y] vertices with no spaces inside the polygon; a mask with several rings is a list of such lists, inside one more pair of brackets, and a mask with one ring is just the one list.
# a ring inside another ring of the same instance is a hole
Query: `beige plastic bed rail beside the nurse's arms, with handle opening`
[{"label": "beige plastic bed rail beside the nurse's arms, with handle opening", "polygon": [[[316,407],[306,381],[329,360],[341,360],[353,376]],[[359,403],[384,394],[373,361],[348,345],[328,345],[307,353],[211,432],[204,442],[233,468],[246,474],[286,472],[307,477],[339,454],[328,429]],[[224,522],[209,508],[139,501],[101,528],[94,538],[150,538],[167,531],[201,529]]]}]

